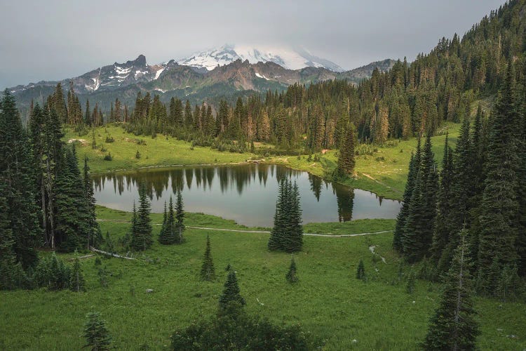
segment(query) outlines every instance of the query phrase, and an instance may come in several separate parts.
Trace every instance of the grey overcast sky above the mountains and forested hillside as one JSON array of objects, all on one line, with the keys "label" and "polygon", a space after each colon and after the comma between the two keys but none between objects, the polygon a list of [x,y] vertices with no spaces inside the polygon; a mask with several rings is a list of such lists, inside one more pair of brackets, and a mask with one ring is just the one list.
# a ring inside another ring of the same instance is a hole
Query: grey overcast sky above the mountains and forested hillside
[{"label": "grey overcast sky above the mountains and forested hillside", "polygon": [[504,0],[0,0],[0,88],[223,44],[301,46],[351,69],[413,60]]}]

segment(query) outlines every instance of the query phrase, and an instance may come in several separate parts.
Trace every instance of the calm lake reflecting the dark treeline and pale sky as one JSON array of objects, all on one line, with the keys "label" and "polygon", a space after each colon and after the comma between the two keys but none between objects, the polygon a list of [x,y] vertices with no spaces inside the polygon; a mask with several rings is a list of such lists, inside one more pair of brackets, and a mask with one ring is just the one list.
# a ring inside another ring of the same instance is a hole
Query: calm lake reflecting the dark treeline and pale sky
[{"label": "calm lake reflecting the dark treeline and pale sky", "polygon": [[372,192],[330,183],[303,171],[278,165],[149,168],[93,176],[97,204],[131,211],[146,183],[151,210],[163,212],[164,202],[182,191],[184,210],[236,220],[248,226],[270,227],[276,209],[278,183],[296,181],[303,223],[342,222],[360,218],[396,218],[400,201]]}]

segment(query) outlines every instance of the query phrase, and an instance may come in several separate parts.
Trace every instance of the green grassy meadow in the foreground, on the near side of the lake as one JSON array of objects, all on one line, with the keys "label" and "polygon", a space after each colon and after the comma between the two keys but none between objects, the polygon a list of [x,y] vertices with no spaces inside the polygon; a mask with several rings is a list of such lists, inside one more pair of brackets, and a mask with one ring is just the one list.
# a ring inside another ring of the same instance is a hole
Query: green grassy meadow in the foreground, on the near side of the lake
[{"label": "green grassy meadow in the foreground, on the near side of the lake", "polygon": [[[128,230],[130,213],[97,208],[103,233],[118,239]],[[154,222],[158,215],[152,215]],[[208,223],[241,228],[232,221],[189,214],[187,225]],[[393,221],[368,220],[331,225],[313,224],[306,230],[392,229]],[[160,226],[154,226],[154,236]],[[299,323],[302,329],[325,340],[324,350],[414,350],[426,334],[429,317],[440,296],[440,286],[417,282],[405,292],[404,267],[391,250],[392,234],[363,237],[304,237],[304,249],[295,255],[299,283],[290,285],[285,273],[290,255],[267,251],[268,234],[187,230],[180,246],[157,243],[137,260],[102,259],[111,273],[109,287],[98,282],[95,258],[81,260],[88,291],[0,292],[1,350],[79,350],[81,330],[92,306],[102,312],[121,350],[152,350],[169,345],[173,329],[213,315],[230,264],[238,272],[246,310],[276,323]],[[197,278],[210,235],[217,280]],[[369,247],[385,258],[373,256]],[[42,253],[47,254],[47,253]],[[60,254],[67,260],[73,254]],[[145,258],[148,258],[147,260]],[[355,279],[360,259],[369,280]],[[146,289],[154,289],[146,293]],[[522,350],[526,340],[525,305],[476,298],[482,350]],[[517,338],[508,337],[515,335]],[[356,343],[353,343],[356,340]]]}]

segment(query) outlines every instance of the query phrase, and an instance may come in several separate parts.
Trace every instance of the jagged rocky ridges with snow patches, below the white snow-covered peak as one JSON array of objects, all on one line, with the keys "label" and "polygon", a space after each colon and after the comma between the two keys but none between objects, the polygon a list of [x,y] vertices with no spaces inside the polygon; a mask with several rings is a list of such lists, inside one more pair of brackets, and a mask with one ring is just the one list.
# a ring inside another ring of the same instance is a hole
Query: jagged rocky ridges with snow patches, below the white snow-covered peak
[{"label": "jagged rocky ridges with snow patches, below the white snow-covered peak", "polygon": [[[224,53],[224,62],[227,62],[226,55],[227,53]],[[254,60],[255,57],[251,59]],[[311,58],[323,62],[322,59]],[[290,62],[292,60],[289,60],[289,64]],[[192,103],[201,103],[202,100],[228,99],[269,89],[283,91],[292,84],[311,84],[328,79],[347,79],[358,83],[361,79],[370,77],[373,69],[384,71],[392,67],[393,62],[372,62],[359,69],[334,72],[325,67],[287,69],[271,60],[252,63],[248,59],[237,58],[227,65],[220,65],[209,71],[204,67],[180,65],[175,60],[148,65],[144,55],[139,55],[135,60],[115,62],[79,77],[64,79],[60,83],[67,89],[72,82],[82,104],[89,99],[92,107],[96,102],[102,110],[109,110],[116,98],[124,104],[133,105],[140,91],[161,95],[164,102],[175,96],[189,99]],[[42,104],[57,84],[58,81],[40,81],[36,84],[15,86],[10,90],[16,96],[19,105],[27,108],[32,100]]]}]

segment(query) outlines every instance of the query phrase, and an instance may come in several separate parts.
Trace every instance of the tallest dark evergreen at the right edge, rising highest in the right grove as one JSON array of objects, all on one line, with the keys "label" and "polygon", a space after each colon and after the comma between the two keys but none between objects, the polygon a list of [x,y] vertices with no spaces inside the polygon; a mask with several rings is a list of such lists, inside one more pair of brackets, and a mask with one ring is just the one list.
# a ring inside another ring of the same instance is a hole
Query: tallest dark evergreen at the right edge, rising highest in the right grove
[{"label": "tallest dark evergreen at the right edge, rising highest in the right grove", "polygon": [[517,172],[519,164],[515,128],[519,115],[515,103],[513,66],[509,65],[494,113],[490,119],[485,189],[480,204],[477,288],[494,294],[497,277],[518,261]]}]

